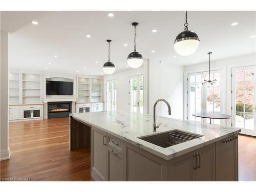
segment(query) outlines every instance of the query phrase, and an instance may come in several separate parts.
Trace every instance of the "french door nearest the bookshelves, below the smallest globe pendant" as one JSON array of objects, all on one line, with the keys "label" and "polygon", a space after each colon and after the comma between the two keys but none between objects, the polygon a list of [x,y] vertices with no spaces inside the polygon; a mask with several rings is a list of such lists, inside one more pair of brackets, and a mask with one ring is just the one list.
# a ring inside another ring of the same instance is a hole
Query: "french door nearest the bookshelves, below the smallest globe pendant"
[{"label": "french door nearest the bookshelves, below the smallest globe pendant", "polygon": [[106,111],[116,111],[116,79],[106,81]]}]

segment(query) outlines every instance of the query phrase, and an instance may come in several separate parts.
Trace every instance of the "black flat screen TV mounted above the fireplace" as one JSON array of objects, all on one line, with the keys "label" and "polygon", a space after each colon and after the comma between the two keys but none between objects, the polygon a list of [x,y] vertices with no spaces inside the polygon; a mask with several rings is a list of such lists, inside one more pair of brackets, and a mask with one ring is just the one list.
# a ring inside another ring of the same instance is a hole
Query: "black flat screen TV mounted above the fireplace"
[{"label": "black flat screen TV mounted above the fireplace", "polygon": [[73,82],[46,81],[46,95],[73,95]]}]

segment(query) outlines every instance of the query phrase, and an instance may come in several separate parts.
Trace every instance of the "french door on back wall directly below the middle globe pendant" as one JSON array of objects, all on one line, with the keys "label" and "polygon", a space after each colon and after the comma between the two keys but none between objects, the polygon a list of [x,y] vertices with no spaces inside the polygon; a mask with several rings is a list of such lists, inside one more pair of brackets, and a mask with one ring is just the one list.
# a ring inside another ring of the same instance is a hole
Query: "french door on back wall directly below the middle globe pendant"
[{"label": "french door on back wall directly below the middle globe pendant", "polygon": [[129,108],[131,112],[143,113],[144,106],[144,76],[129,78]]}]

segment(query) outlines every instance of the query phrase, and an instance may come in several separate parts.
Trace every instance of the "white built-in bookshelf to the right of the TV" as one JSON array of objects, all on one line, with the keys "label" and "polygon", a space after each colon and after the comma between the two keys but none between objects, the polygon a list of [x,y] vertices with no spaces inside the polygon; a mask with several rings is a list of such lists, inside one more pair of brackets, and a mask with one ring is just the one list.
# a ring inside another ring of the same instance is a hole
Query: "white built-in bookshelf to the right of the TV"
[{"label": "white built-in bookshelf to the right of the TV", "polygon": [[77,102],[102,102],[102,78],[77,78]]}]

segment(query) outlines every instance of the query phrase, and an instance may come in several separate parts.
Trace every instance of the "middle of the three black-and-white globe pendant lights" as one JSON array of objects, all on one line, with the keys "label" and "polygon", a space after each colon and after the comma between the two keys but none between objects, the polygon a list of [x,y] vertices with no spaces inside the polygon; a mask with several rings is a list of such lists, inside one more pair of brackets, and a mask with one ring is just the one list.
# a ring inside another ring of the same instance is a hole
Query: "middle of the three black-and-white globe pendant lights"
[{"label": "middle of the three black-and-white globe pendant lights", "polygon": [[130,53],[127,57],[127,63],[131,68],[139,68],[143,63],[142,55],[136,51],[136,26],[139,24],[134,22],[132,26],[134,26],[134,52]]}]

